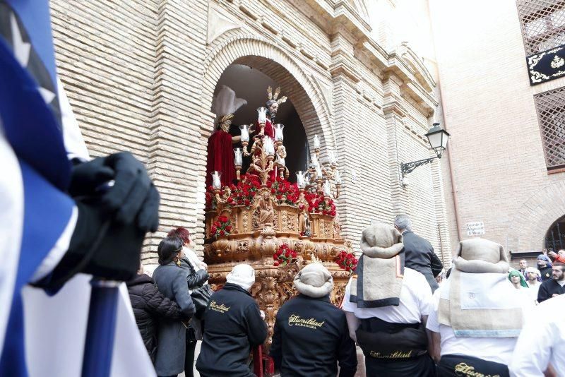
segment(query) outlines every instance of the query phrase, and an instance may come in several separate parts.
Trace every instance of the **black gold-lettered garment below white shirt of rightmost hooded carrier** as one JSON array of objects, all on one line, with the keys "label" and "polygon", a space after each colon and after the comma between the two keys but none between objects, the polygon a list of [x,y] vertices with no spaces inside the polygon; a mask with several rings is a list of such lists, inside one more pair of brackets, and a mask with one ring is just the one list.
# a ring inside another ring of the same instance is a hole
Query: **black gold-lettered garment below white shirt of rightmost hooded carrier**
[{"label": "black gold-lettered garment below white shirt of rightmost hooded carrier", "polygon": [[[473,373],[473,374],[471,374]],[[458,354],[444,354],[437,364],[439,377],[451,376],[495,376],[509,377],[508,366],[494,361]]]}]

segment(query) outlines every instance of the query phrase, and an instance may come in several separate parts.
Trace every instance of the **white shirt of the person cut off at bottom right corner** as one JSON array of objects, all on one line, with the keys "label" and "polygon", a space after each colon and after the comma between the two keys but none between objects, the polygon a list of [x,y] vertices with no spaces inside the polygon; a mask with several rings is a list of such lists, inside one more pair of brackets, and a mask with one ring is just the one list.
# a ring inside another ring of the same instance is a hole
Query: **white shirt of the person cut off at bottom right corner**
[{"label": "white shirt of the person cut off at bottom right corner", "polygon": [[525,322],[509,364],[514,377],[543,376],[551,363],[565,376],[565,294],[543,301]]}]

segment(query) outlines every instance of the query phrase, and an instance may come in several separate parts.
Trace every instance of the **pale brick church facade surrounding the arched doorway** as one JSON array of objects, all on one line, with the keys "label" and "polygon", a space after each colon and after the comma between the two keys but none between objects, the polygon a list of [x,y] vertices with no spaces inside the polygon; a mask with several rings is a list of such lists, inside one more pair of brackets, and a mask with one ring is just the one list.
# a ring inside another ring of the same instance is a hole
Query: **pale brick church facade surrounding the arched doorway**
[{"label": "pale brick church facade surrounding the arched doorway", "polygon": [[354,246],[372,220],[406,212],[449,261],[444,169],[433,162],[412,172],[408,187],[399,181],[400,162],[431,156],[424,133],[438,104],[434,67],[410,40],[393,43],[392,27],[371,28],[364,1],[51,3],[59,75],[90,152],[131,150],[162,195],[146,263],[171,227],[191,229],[201,249],[210,104],[234,63],[275,80],[309,140],[318,134],[322,151],[337,150],[338,211]]}]

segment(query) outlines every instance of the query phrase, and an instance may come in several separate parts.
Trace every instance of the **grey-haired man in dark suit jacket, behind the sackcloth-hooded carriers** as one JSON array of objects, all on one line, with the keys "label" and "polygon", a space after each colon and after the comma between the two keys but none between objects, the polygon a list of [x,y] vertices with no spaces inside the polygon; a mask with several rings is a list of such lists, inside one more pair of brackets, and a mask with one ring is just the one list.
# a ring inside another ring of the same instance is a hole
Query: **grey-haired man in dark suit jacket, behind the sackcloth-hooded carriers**
[{"label": "grey-haired man in dark suit jacket, behind the sackcloth-hooded carriers", "polygon": [[434,247],[429,241],[412,232],[412,223],[408,215],[396,216],[394,227],[403,237],[405,267],[417,270],[424,275],[433,293],[439,288],[436,276],[444,268],[436,253],[434,253]]}]

